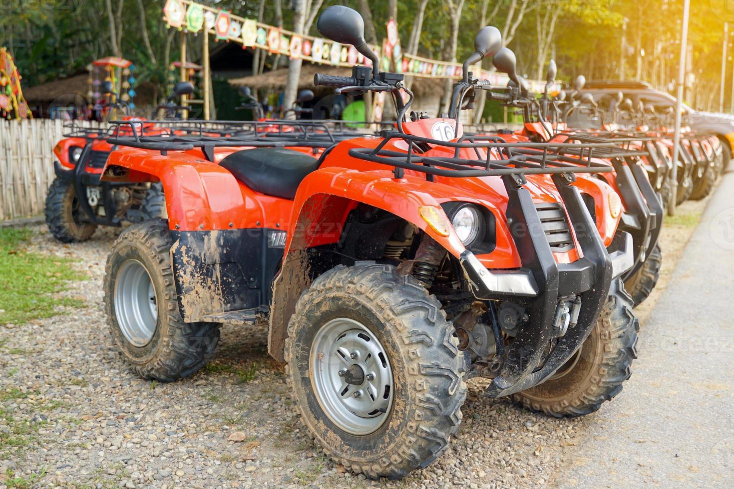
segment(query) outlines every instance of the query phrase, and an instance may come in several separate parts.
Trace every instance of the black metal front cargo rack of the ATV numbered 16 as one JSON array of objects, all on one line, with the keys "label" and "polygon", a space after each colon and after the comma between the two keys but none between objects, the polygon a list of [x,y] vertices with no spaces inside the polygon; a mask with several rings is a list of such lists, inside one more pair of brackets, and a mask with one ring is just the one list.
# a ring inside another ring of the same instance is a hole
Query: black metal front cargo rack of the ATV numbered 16
[{"label": "black metal front cargo rack of the ATV numbered 16", "polygon": [[[386,150],[393,140],[407,143],[407,152]],[[443,148],[447,155],[426,152]],[[520,174],[607,173],[612,166],[595,161],[595,152],[613,148],[610,142],[508,143],[498,136],[462,136],[457,141],[440,141],[392,131],[373,148],[352,148],[349,155],[372,163],[393,166],[396,178],[404,170],[422,172],[432,180],[439,177],[493,177]],[[462,150],[468,150],[461,155]],[[576,150],[577,155],[565,155]],[[451,156],[451,152],[453,155]],[[467,154],[468,153],[468,154]]]}]

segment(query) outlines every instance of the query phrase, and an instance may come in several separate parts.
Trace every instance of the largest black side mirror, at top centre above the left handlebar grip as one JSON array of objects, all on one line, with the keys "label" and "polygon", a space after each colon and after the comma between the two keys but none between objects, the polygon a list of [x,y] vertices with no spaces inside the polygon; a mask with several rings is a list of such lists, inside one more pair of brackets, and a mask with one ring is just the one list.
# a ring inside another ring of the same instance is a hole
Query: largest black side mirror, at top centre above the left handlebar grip
[{"label": "largest black side mirror, at top centre above the left handlebar grip", "polygon": [[319,15],[316,29],[321,35],[336,43],[351,44],[363,56],[372,60],[372,74],[379,73],[379,59],[365,40],[365,21],[357,10],[332,5]]}]

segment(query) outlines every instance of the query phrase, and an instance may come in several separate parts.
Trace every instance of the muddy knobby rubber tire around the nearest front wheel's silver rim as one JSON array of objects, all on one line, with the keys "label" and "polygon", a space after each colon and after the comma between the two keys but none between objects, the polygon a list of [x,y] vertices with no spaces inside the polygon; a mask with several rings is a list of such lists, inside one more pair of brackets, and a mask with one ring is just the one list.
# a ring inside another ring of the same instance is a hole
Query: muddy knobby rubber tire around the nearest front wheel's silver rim
[{"label": "muddy knobby rubber tire around the nearest front wheel's silver rim", "polygon": [[[405,477],[439,457],[457,433],[467,389],[464,356],[440,307],[412,276],[374,262],[339,265],[299,298],[288,323],[288,384],[303,422],[337,463],[371,478]],[[368,328],[392,369],[393,400],[378,415],[384,422],[364,435],[338,427],[321,406],[326,394],[315,393],[319,373],[310,362],[327,353],[314,340],[344,318]]]}]

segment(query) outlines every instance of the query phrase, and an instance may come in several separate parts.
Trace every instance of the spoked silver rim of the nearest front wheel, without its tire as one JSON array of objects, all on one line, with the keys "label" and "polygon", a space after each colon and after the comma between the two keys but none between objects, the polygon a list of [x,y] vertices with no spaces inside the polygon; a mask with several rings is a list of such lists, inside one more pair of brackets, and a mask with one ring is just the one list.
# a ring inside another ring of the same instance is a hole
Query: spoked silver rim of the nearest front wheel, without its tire
[{"label": "spoked silver rim of the nearest front wheel, without its tire", "polygon": [[316,400],[339,429],[368,435],[388,419],[395,391],[390,359],[361,323],[338,317],[321,326],[309,370]]}]

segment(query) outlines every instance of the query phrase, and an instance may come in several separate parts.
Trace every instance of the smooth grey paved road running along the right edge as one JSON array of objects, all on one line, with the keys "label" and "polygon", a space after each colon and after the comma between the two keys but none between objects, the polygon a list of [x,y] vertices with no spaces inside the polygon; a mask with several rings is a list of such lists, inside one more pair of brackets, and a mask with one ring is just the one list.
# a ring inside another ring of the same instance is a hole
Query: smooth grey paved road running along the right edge
[{"label": "smooth grey paved road running along the right edge", "polygon": [[642,325],[621,394],[584,419],[559,488],[734,487],[734,172]]}]

